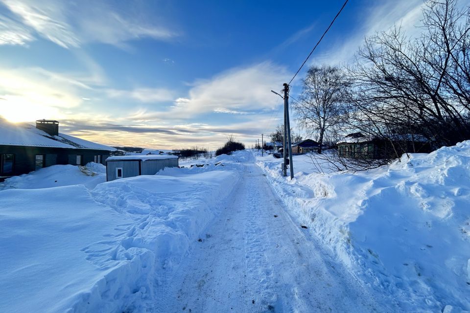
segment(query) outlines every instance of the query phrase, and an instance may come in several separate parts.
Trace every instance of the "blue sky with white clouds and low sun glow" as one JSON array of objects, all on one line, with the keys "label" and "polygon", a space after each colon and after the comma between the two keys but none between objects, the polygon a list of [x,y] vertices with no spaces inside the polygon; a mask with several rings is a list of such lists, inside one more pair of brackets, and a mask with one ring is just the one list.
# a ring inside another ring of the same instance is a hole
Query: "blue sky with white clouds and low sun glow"
[{"label": "blue sky with white clouds and low sun glow", "polygon": [[[0,0],[0,117],[60,121],[117,146],[251,146],[282,123],[281,92],[344,0]],[[351,62],[364,37],[423,0],[350,0],[307,66]],[[304,133],[295,123],[297,133]]]}]

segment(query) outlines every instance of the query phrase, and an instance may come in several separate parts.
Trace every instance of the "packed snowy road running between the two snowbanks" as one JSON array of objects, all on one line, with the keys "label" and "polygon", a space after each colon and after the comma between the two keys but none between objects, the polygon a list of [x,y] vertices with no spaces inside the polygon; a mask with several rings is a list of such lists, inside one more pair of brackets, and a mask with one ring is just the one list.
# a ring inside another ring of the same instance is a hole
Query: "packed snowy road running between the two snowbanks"
[{"label": "packed snowy road running between the two snowbanks", "polygon": [[253,160],[243,166],[222,213],[157,290],[155,312],[393,311],[286,212]]}]

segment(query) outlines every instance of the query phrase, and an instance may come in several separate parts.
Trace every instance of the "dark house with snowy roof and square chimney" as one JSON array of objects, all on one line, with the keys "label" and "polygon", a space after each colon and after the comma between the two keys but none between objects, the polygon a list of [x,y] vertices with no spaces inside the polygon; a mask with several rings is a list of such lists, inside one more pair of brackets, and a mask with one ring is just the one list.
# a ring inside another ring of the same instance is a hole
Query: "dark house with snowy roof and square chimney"
[{"label": "dark house with snowy roof and square chimney", "polygon": [[59,133],[59,122],[12,124],[0,119],[0,179],[56,164],[104,164],[115,148]]}]

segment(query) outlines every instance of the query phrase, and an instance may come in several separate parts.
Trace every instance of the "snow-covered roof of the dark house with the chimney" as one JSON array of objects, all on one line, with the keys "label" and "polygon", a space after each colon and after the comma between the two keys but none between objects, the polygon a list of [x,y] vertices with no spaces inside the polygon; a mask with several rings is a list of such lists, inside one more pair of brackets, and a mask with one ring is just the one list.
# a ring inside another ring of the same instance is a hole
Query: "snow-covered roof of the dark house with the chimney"
[{"label": "snow-covered roof of the dark house with the chimney", "polygon": [[52,136],[28,123],[12,124],[1,118],[0,145],[116,151],[113,147],[67,134]]}]

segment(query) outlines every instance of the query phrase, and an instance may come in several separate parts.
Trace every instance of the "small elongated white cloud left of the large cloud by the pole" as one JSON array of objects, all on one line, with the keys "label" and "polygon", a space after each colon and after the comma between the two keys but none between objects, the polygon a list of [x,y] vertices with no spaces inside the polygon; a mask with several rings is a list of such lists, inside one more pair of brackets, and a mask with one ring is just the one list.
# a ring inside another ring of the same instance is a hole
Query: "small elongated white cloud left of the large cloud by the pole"
[{"label": "small elongated white cloud left of the large cloud by the pole", "polygon": [[175,99],[174,92],[164,88],[107,89],[106,93],[111,98],[135,99],[145,103],[173,101]]}]

